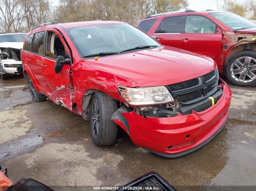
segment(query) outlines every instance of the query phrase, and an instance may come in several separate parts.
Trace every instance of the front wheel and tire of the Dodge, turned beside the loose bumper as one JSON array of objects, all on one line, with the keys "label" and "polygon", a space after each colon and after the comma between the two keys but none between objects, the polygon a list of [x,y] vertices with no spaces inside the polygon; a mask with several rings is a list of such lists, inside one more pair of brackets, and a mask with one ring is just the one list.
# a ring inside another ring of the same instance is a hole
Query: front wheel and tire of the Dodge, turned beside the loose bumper
[{"label": "front wheel and tire of the Dodge, turned beside the loose bumper", "polygon": [[91,98],[90,107],[92,141],[99,146],[112,145],[116,139],[118,125],[111,120],[111,115],[118,109],[117,102],[107,94],[96,91]]}]

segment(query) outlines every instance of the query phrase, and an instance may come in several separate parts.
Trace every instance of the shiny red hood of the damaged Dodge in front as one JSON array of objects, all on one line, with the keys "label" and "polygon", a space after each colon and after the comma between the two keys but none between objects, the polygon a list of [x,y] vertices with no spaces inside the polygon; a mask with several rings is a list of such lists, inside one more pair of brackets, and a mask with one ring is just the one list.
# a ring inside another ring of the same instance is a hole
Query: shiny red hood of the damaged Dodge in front
[{"label": "shiny red hood of the damaged Dodge in front", "polygon": [[131,79],[140,87],[174,84],[216,68],[207,56],[169,46],[89,59],[86,63]]}]

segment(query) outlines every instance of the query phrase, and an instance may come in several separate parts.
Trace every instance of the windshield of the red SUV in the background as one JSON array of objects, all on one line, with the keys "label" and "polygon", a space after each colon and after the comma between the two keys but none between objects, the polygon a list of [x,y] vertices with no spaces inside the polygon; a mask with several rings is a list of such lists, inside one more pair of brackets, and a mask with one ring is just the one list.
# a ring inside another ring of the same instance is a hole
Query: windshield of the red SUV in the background
[{"label": "windshield of the red SUV in the background", "polygon": [[240,29],[248,29],[248,28],[256,27],[255,23],[233,13],[228,13],[228,12],[210,13],[210,15],[218,19],[225,25],[227,25],[232,30],[240,30]]}]

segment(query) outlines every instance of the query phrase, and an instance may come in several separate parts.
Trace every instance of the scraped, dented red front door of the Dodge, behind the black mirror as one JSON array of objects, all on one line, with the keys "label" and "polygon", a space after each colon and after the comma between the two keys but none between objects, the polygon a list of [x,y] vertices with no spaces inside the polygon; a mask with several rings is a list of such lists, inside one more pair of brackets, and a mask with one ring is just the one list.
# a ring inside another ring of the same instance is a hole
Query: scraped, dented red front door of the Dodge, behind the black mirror
[{"label": "scraped, dented red front door of the Dodge, behind the black mirror", "polygon": [[48,90],[49,99],[55,103],[72,110],[74,101],[71,66],[65,64],[62,70],[56,74],[54,65],[58,56],[64,56],[71,60],[70,50],[55,29],[50,28],[45,33],[45,64],[42,65],[43,78]]}]

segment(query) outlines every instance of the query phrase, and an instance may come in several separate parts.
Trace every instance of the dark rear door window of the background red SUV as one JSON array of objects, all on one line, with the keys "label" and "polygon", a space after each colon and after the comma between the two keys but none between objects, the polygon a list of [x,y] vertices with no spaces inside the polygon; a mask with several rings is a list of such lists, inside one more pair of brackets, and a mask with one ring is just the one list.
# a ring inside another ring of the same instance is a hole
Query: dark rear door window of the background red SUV
[{"label": "dark rear door window of the background red SUV", "polygon": [[182,16],[167,17],[161,22],[158,33],[180,33],[181,23]]}]

